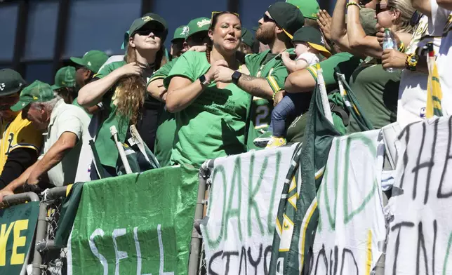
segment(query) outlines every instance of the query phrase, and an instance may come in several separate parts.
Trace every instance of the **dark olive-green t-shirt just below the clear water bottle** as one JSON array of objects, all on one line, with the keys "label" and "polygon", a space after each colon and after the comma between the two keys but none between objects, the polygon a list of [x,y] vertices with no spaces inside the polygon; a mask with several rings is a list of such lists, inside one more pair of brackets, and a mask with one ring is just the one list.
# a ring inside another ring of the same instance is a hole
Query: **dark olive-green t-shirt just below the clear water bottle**
[{"label": "dark olive-green t-shirt just below the clear water bottle", "polygon": [[[381,65],[375,64],[363,63],[353,72],[350,88],[373,128],[380,129],[397,121],[400,77],[401,70],[386,72]],[[357,121],[350,116],[347,132],[360,131]]]}]

